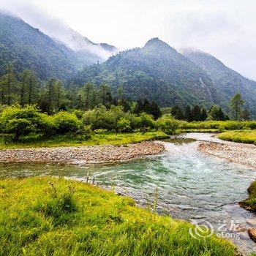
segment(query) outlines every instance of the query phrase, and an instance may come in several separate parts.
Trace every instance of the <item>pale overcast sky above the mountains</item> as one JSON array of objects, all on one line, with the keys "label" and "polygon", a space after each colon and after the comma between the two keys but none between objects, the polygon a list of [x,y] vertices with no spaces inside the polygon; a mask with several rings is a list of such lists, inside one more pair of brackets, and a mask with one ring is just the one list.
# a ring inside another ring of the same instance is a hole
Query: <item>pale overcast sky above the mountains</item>
[{"label": "pale overcast sky above the mountains", "polygon": [[45,33],[62,22],[121,50],[159,37],[211,53],[256,80],[255,0],[0,0],[0,8]]}]

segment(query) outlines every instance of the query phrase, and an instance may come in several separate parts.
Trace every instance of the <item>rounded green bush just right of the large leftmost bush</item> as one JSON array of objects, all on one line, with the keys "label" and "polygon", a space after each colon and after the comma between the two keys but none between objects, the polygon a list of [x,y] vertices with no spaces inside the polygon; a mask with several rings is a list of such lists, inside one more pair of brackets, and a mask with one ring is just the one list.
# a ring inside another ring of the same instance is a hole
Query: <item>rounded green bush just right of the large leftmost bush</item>
[{"label": "rounded green bush just right of the large leftmost bush", "polygon": [[53,116],[53,124],[56,129],[56,133],[64,135],[68,132],[75,132],[80,128],[80,121],[72,114],[65,111],[56,113]]}]

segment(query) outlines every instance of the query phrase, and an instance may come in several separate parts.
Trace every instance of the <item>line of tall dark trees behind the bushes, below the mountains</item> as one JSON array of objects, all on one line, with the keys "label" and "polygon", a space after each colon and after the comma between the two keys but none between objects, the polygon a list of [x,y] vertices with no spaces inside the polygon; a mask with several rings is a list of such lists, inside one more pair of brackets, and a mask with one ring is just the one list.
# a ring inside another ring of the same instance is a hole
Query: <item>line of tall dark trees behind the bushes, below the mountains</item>
[{"label": "line of tall dark trees behind the bushes, below the mountains", "polygon": [[[110,108],[111,105],[120,105],[124,111],[135,114],[148,113],[154,119],[162,114],[171,114],[178,120],[186,121],[230,119],[227,113],[217,105],[213,105],[209,110],[199,105],[187,106],[184,109],[174,106],[160,110],[156,102],[149,102],[148,99],[138,99],[137,102],[133,102],[124,97],[122,86],[118,86],[115,94],[106,84],[99,86],[92,83],[86,83],[84,86],[70,84],[66,87],[56,78],[39,80],[30,69],[16,74],[12,65],[8,64],[6,73],[0,78],[0,104],[8,106],[14,103],[20,106],[36,104],[46,113],[67,109],[90,110],[99,105],[104,105],[106,108]],[[230,100],[230,112],[236,120],[249,120],[249,111],[243,110],[243,105],[244,100],[241,94],[237,93]]]}]

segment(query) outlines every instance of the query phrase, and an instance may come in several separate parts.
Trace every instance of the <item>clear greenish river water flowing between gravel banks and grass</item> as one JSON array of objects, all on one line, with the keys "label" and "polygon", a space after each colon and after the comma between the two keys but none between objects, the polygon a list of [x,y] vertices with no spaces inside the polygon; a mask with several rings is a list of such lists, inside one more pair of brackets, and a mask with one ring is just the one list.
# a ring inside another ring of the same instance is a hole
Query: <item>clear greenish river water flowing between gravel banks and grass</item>
[{"label": "clear greenish river water flowing between gravel banks and grass", "polygon": [[197,151],[199,140],[212,138],[192,134],[165,140],[163,154],[115,165],[1,163],[0,178],[49,175],[85,181],[89,173],[97,184],[132,196],[142,206],[157,198],[160,213],[206,225],[218,236],[231,238],[243,255],[256,252],[247,235],[248,227],[256,227],[256,214],[238,206],[248,196],[246,189],[256,170],[206,156]]}]

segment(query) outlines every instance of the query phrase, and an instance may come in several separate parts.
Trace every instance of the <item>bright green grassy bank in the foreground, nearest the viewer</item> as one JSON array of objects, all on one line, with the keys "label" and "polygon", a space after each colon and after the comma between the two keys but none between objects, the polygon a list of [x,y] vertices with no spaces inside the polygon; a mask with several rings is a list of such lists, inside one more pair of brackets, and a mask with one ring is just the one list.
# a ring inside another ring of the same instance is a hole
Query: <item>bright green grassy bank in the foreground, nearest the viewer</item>
[{"label": "bright green grassy bank in the foreground, nearest the viewer", "polygon": [[230,241],[192,238],[193,225],[79,181],[1,180],[0,197],[0,255],[236,255]]}]

